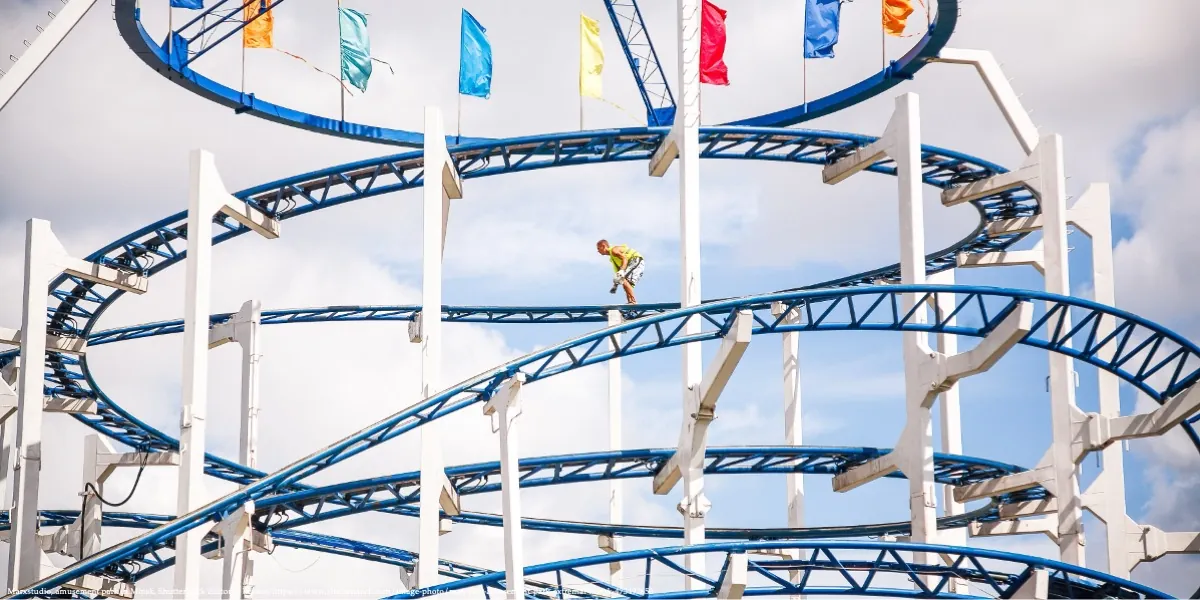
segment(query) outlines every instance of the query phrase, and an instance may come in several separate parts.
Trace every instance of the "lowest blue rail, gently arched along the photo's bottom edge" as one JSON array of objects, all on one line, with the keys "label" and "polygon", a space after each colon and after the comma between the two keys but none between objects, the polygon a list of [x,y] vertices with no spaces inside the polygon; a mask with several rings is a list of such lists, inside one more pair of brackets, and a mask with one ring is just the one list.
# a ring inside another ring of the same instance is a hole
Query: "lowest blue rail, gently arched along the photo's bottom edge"
[{"label": "lowest blue rail, gently arched along the photo's bottom edge", "polygon": [[[762,557],[755,553],[797,551],[799,558]],[[928,552],[941,556],[947,564],[919,564],[904,558],[902,552]],[[706,577],[684,565],[688,554],[716,554],[721,570]],[[1049,598],[1170,598],[1132,581],[1057,560],[1013,554],[995,550],[935,546],[905,542],[859,541],[757,541],[742,544],[701,544],[667,548],[636,550],[599,554],[524,568],[524,574],[552,575],[559,582],[558,598],[587,598],[607,592],[619,598],[679,599],[714,598],[721,587],[731,554],[746,556],[749,581],[744,594],[751,595],[854,595],[895,598],[1014,598],[1034,571],[1049,575]],[[635,588],[614,586],[587,575],[588,566],[611,563],[642,563],[646,577]],[[988,566],[984,565],[988,563]],[[998,565],[996,563],[1000,563]],[[658,569],[650,576],[652,569]],[[1004,569],[1004,570],[1001,570]],[[800,582],[787,581],[787,571],[800,571]],[[503,572],[443,583],[389,598],[426,598],[439,593],[476,589],[498,584]],[[660,582],[690,581],[695,589],[668,587]],[[980,595],[949,592],[952,580],[966,580],[985,590]],[[899,582],[899,584],[898,584]],[[666,588],[666,589],[662,589]],[[578,594],[578,595],[576,595]]]}]

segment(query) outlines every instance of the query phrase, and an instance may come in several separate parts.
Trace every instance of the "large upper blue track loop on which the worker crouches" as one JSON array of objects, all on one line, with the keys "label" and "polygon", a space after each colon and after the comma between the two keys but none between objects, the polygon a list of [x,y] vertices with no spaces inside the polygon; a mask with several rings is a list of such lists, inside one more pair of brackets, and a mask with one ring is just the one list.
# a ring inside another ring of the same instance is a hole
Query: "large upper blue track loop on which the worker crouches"
[{"label": "large upper blue track loop on which the worker crouches", "polygon": [[[569,132],[533,136],[502,142],[479,142],[454,149],[452,157],[464,179],[532,170],[551,167],[595,164],[647,160],[661,143],[665,128],[612,130],[599,132]],[[853,152],[857,148],[876,138],[846,133],[769,130],[769,128],[721,128],[701,130],[702,156],[706,158],[755,160],[805,164],[827,164]],[[923,146],[923,179],[940,190],[968,184],[1004,173],[1002,167],[966,155],[935,146]],[[869,167],[881,174],[895,174],[890,160],[881,160]],[[370,198],[384,193],[419,187],[424,182],[424,158],[420,151],[392,155],[376,160],[306,173],[274,181],[236,193],[256,206],[288,220],[340,204]],[[1024,187],[1007,190],[973,203],[980,215],[974,230],[956,244],[926,257],[930,272],[955,266],[959,252],[980,253],[1003,250],[1024,234],[989,238],[986,223],[1034,215],[1038,205],[1032,193]],[[227,217],[218,217],[221,226],[212,241],[221,244],[246,233],[244,226]],[[186,241],[186,212],[178,212],[156,223],[133,232],[86,257],[119,269],[133,270],[146,276],[161,272],[184,259]],[[852,275],[810,287],[864,286],[876,282],[898,282],[899,265],[889,265],[865,274]],[[119,299],[124,292],[103,284],[84,282],[78,277],[60,276],[50,284],[50,295],[59,305],[50,310],[50,330],[60,335],[90,337],[97,318]],[[654,305],[650,308],[632,307],[630,316],[661,312],[677,305]],[[448,314],[449,320],[468,322],[484,311],[490,322],[540,322],[571,320],[584,307],[560,308],[482,308]],[[594,311],[594,307],[588,308]],[[547,314],[548,312],[558,314]],[[586,316],[583,316],[586,317]],[[16,356],[16,352],[0,354],[0,364]],[[95,383],[88,368],[86,356],[82,359],[48,354],[47,394],[52,396],[90,397],[97,400],[96,415],[79,415],[85,425],[124,444],[150,451],[169,451],[178,442],[163,432],[146,425],[124,410]],[[236,463],[212,455],[206,456],[209,474],[235,481],[248,482],[263,473],[246,469]]]}]

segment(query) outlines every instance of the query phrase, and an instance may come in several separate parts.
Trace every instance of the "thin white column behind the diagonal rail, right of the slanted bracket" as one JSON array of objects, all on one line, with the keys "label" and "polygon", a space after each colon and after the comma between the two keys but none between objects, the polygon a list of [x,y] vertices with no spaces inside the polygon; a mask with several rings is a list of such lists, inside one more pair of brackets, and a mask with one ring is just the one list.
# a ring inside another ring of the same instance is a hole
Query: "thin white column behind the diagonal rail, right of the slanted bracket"
[{"label": "thin white column behind the diagonal rail, right of the slanted bracket", "polygon": [[[784,323],[788,325],[799,324],[803,312],[794,310],[786,316],[787,307],[782,302],[775,302],[770,307],[772,314],[784,317]],[[803,410],[800,396],[800,334],[798,331],[785,331],[781,336],[784,347],[784,445],[804,445]],[[798,529],[804,527],[804,475],[800,473],[788,473],[785,479],[785,499],[787,500],[787,527]],[[787,571],[788,581],[799,584],[803,571]],[[794,595],[794,599],[804,598]]]}]

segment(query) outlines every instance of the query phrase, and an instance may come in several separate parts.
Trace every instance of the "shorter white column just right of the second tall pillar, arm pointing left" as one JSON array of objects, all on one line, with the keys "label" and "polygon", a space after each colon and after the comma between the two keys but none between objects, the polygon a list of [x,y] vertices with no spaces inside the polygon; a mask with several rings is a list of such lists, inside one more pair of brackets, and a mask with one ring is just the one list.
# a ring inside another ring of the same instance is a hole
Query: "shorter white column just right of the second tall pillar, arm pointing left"
[{"label": "shorter white column just right of the second tall pillar, arm pointing left", "polygon": [[[238,458],[241,464],[250,468],[258,468],[258,366],[262,356],[258,352],[258,330],[262,316],[262,305],[257,300],[246,300],[236,314],[209,331],[210,349],[227,342],[236,342],[241,347]],[[222,598],[235,600],[250,598],[254,587],[253,528],[248,524],[229,524],[221,532],[224,545],[221,571]]]}]

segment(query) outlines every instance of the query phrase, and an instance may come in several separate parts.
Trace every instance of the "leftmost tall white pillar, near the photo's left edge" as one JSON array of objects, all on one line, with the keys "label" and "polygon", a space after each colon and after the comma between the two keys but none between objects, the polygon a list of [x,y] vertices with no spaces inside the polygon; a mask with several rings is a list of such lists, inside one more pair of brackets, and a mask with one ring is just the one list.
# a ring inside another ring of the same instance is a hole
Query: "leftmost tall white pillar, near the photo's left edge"
[{"label": "leftmost tall white pillar, near the photo's left edge", "polygon": [[13,509],[8,538],[8,589],[41,578],[37,544],[37,497],[42,470],[42,410],[46,372],[46,290],[54,276],[60,247],[50,223],[25,222],[25,286],[20,316],[20,365],[17,376],[17,440],[13,464]]}]

